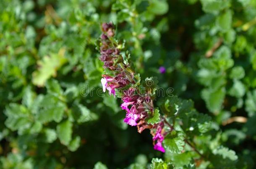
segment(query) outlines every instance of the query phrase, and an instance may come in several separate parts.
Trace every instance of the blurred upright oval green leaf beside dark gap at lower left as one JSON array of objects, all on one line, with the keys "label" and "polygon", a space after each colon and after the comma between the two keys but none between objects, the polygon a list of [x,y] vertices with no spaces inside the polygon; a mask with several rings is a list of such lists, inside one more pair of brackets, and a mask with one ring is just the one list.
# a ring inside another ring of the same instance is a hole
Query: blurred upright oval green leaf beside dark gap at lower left
[{"label": "blurred upright oval green leaf beside dark gap at lower left", "polygon": [[57,125],[57,136],[60,139],[60,142],[65,146],[71,141],[72,126],[72,122],[68,120]]}]

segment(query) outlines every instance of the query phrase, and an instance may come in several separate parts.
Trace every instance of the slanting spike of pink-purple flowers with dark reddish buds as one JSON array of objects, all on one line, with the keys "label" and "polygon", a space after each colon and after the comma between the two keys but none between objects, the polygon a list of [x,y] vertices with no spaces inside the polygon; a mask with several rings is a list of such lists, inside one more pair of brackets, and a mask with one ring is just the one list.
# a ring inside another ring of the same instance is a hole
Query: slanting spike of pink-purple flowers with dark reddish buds
[{"label": "slanting spike of pink-purple flowers with dark reddish buds", "polygon": [[154,114],[151,90],[141,95],[137,90],[136,73],[130,64],[123,62],[118,44],[113,40],[115,29],[112,23],[102,24],[102,35],[100,40],[100,60],[104,62],[104,68],[111,71],[112,75],[102,75],[101,83],[103,91],[115,96],[115,89],[123,89],[121,108],[126,111],[124,122],[137,126],[138,132],[150,129],[153,136],[154,149],[165,152],[162,142],[165,132],[165,122],[161,117],[156,124],[147,123],[147,118]]}]

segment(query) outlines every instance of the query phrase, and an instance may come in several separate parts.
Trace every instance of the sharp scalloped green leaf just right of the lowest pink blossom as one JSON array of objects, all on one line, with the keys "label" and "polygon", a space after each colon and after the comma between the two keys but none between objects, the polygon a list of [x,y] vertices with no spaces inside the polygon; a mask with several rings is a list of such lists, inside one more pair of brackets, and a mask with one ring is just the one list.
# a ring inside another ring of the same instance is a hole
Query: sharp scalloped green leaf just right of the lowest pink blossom
[{"label": "sharp scalloped green leaf just right of the lowest pink blossom", "polygon": [[163,141],[165,148],[167,151],[171,153],[180,154],[184,149],[184,134],[181,132],[172,131],[172,133],[168,134]]}]

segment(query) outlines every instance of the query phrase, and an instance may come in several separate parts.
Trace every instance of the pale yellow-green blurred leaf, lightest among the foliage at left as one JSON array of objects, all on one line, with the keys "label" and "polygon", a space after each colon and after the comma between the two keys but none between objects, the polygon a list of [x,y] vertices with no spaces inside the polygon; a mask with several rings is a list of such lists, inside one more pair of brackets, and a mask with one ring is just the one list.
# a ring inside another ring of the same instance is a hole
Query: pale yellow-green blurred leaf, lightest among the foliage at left
[{"label": "pale yellow-green blurred leaf, lightest among the foliage at left", "polygon": [[57,70],[67,61],[64,57],[65,49],[60,49],[59,53],[52,53],[50,56],[38,61],[38,70],[34,71],[32,82],[37,86],[44,86],[47,79],[51,76],[57,76]]}]

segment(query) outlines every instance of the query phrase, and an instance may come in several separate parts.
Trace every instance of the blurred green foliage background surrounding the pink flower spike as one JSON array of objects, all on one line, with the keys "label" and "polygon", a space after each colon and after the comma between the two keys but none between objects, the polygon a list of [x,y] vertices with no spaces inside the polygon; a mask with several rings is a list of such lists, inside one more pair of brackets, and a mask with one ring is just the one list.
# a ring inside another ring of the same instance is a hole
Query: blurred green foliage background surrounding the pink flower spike
[{"label": "blurred green foliage background surrounding the pink flower spike", "polygon": [[[143,79],[193,100],[155,101],[179,109],[165,154],[97,95],[109,21]],[[253,169],[255,88],[255,0],[0,1],[0,168]]]}]

